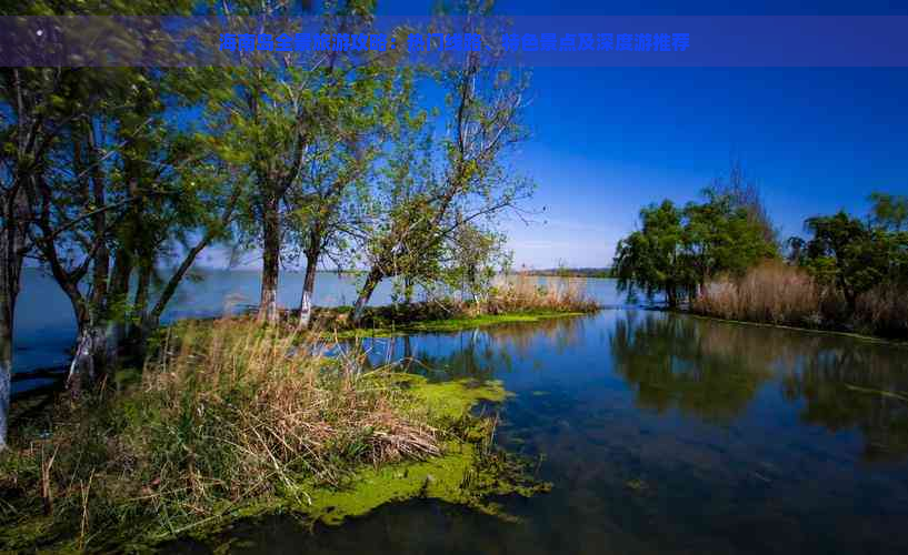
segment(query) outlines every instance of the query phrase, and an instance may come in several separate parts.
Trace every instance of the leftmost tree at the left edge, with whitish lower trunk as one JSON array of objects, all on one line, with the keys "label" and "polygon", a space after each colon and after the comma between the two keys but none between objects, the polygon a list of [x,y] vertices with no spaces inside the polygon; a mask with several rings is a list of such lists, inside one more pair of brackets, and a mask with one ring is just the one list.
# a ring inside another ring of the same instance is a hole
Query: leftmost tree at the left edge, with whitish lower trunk
[{"label": "leftmost tree at the left edge, with whitish lower trunk", "polygon": [[[184,1],[158,0],[132,2],[127,6],[119,1],[93,0],[80,2],[78,7],[66,2],[37,0],[33,2],[2,2],[0,10],[10,14],[48,16],[83,13],[151,13],[160,8],[169,13],[188,9]],[[149,37],[149,43],[156,41]],[[31,38],[40,41],[39,34]],[[32,44],[34,47],[36,44]],[[0,221],[0,446],[6,441],[7,413],[9,407],[9,385],[12,373],[12,325],[16,300],[20,286],[21,268],[24,256],[37,245],[29,238],[36,220],[39,186],[50,167],[52,151],[60,147],[63,134],[78,125],[80,111],[73,110],[72,98],[84,101],[74,88],[83,81],[86,71],[73,68],[7,68],[0,77],[0,123],[2,147],[2,221]],[[98,70],[103,75],[104,70]],[[103,90],[103,85],[99,85]],[[77,93],[72,97],[72,93]],[[87,105],[82,107],[83,109]],[[99,191],[100,192],[100,191]],[[100,224],[108,206],[96,205],[89,212],[74,216],[72,226],[91,221]],[[69,230],[66,230],[69,231]],[[99,256],[103,248],[96,252]],[[99,266],[98,272],[102,269]]]}]

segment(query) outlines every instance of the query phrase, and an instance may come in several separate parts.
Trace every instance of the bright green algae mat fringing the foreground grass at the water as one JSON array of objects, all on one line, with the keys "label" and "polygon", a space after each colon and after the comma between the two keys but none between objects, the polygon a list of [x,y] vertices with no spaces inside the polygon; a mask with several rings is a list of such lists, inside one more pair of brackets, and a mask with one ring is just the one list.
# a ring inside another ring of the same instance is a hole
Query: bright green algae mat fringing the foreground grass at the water
[{"label": "bright green algae mat fringing the foreground grass at the water", "polygon": [[[492,446],[496,418],[472,415],[479,403],[500,403],[509,393],[499,381],[458,381],[431,383],[426,377],[390,373],[388,380],[410,398],[412,410],[436,426],[442,440],[441,454],[426,460],[405,461],[352,470],[339,485],[329,485],[311,475],[288,475],[276,492],[260,497],[224,502],[206,516],[182,527],[158,522],[124,519],[107,527],[101,536],[81,544],[78,529],[66,533],[50,517],[33,515],[11,523],[0,534],[0,552],[34,549],[148,552],[162,542],[192,537],[201,542],[222,533],[232,523],[288,512],[303,522],[340,525],[388,503],[430,498],[469,506],[495,517],[511,521],[495,498],[505,495],[532,496],[547,492],[550,484],[530,477],[526,462]],[[134,500],[133,500],[134,501]],[[111,500],[111,503],[117,503]],[[121,514],[130,513],[130,503]],[[113,508],[113,507],[112,507]],[[77,523],[78,526],[78,523]],[[54,529],[56,528],[56,529]]]}]

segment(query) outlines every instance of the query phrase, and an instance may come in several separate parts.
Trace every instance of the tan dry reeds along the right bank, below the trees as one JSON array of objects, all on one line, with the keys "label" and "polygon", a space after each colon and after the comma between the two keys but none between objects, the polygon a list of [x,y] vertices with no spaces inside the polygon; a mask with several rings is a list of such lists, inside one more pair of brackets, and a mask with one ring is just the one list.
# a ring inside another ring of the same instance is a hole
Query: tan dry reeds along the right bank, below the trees
[{"label": "tan dry reeds along the right bank, below the trees", "polygon": [[740,279],[714,280],[691,310],[728,320],[908,337],[908,292],[881,284],[859,295],[851,313],[837,291],[779,261],[752,268]]}]

